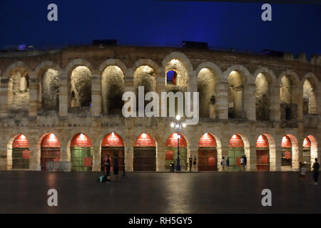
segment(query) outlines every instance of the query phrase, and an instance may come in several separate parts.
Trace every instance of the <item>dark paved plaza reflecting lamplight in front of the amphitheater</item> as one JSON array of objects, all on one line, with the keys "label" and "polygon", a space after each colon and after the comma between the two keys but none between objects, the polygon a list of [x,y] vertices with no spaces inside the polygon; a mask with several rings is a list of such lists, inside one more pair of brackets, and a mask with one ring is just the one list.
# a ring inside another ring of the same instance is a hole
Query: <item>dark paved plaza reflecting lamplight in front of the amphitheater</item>
[{"label": "dark paved plaza reflecting lamplight in front of the amphitheater", "polygon": [[[126,173],[119,182],[101,172],[0,172],[0,213],[320,213],[321,187],[297,172]],[[58,191],[58,207],[47,204]],[[272,191],[263,207],[261,191]]]}]

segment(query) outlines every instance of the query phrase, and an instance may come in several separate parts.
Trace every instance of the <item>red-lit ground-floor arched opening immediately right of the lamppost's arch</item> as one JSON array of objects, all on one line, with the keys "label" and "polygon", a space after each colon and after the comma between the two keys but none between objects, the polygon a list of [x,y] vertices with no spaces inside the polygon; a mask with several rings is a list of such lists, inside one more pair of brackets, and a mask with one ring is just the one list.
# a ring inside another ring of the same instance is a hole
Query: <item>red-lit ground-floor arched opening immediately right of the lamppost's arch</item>
[{"label": "red-lit ground-floor arched opening immediately right of the lamppost's arch", "polygon": [[198,171],[218,171],[218,150],[213,135],[205,133],[198,141]]}]

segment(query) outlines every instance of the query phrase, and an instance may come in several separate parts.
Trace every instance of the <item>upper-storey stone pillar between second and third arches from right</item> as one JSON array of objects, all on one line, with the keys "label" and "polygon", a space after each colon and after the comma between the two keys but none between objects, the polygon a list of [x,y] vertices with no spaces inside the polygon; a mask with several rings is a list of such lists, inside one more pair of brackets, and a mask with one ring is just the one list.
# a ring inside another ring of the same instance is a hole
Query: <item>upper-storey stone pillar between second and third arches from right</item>
[{"label": "upper-storey stone pillar between second and third arches from right", "polygon": [[270,120],[281,119],[280,113],[280,85],[273,83],[270,85]]}]

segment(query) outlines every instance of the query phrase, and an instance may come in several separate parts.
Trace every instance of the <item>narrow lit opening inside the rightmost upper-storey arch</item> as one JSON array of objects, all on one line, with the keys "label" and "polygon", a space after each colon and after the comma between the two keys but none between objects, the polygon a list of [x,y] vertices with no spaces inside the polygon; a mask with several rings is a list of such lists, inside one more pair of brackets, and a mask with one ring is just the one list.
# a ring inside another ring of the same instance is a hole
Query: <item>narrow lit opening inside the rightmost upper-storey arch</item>
[{"label": "narrow lit opening inside the rightmost upper-storey arch", "polygon": [[317,114],[317,96],[309,79],[303,84],[303,115]]}]

